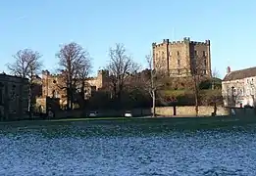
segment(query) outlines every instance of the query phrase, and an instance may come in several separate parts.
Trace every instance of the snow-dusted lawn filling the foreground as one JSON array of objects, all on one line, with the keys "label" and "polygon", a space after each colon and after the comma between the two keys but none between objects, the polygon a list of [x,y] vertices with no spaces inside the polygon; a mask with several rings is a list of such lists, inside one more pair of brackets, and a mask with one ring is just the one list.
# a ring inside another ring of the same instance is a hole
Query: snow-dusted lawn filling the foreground
[{"label": "snow-dusted lawn filling the foreground", "polygon": [[256,175],[253,129],[127,136],[62,130],[2,131],[0,175]]}]

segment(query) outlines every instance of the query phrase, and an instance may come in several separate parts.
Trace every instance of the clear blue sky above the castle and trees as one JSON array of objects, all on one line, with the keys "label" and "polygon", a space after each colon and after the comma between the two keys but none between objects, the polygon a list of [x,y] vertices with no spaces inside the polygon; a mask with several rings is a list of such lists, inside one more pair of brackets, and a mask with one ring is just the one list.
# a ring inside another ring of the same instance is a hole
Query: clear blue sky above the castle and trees
[{"label": "clear blue sky above the castle and trees", "polygon": [[136,62],[164,38],[211,40],[212,67],[256,66],[256,1],[249,0],[3,0],[0,71],[12,55],[30,48],[45,68],[57,68],[60,44],[77,42],[93,58],[94,73],[108,62],[109,47],[124,43]]}]

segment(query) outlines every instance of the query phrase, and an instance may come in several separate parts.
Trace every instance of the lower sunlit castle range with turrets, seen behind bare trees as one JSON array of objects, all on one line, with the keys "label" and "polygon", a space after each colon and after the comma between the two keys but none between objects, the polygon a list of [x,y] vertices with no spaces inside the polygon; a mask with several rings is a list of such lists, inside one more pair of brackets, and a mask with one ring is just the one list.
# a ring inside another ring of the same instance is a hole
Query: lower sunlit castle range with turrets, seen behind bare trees
[{"label": "lower sunlit castle range with turrets, seen behind bare trees", "polygon": [[[96,77],[89,77],[85,79],[84,82],[84,98],[89,99],[93,92],[96,92],[104,87],[108,86],[109,72],[107,70],[99,70]],[[66,81],[64,74],[51,74],[48,70],[42,71],[41,76],[41,86],[42,93],[37,96],[36,106],[41,106],[45,111],[47,100],[49,98],[59,100],[61,107],[67,105],[67,90],[66,90]],[[77,88],[81,87],[81,81],[77,81]]]}]

